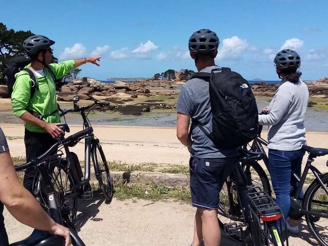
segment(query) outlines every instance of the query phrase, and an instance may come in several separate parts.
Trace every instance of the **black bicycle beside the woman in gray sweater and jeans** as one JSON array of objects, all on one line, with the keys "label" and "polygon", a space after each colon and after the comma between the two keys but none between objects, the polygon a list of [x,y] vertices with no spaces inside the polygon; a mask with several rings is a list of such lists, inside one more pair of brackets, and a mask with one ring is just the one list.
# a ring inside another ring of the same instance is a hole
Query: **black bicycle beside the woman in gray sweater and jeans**
[{"label": "black bicycle beside the woman in gray sweater and jeans", "polygon": [[[265,153],[264,147],[267,147],[269,143],[261,137],[261,131],[262,126],[259,126],[257,137],[253,140],[249,149]],[[244,148],[247,148],[247,146],[244,146]],[[317,156],[327,155],[328,149],[312,148],[303,145],[302,150],[308,152],[309,156],[301,177],[292,172],[292,176],[297,181],[298,186],[296,190],[291,192],[289,216],[292,219],[301,219],[304,216],[315,239],[320,245],[328,246],[328,173],[322,174],[312,165]],[[266,154],[262,160],[269,170],[269,159]],[[250,166],[252,166],[252,163],[250,163]],[[249,173],[248,180],[263,179],[263,175],[265,176],[264,179],[268,179],[262,167],[259,167],[258,170],[257,172]],[[315,178],[308,189],[306,189],[303,198],[300,198],[299,196],[310,170]]]}]

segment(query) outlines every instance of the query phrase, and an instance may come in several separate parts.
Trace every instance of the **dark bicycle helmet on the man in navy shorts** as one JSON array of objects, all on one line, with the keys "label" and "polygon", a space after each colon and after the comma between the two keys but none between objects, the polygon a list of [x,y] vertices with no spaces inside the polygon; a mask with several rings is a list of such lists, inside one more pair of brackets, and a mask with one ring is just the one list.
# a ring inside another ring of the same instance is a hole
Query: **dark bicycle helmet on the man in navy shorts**
[{"label": "dark bicycle helmet on the man in navy shorts", "polygon": [[189,51],[192,54],[213,55],[219,47],[219,37],[210,29],[200,29],[189,38]]}]

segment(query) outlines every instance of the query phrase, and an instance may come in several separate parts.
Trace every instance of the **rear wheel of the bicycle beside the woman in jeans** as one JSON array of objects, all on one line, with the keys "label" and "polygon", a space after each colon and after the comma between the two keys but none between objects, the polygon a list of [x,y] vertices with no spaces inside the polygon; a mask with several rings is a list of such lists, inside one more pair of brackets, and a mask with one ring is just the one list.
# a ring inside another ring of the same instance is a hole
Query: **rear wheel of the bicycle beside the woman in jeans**
[{"label": "rear wheel of the bicycle beside the woman in jeans", "polygon": [[[328,187],[328,173],[320,176],[320,179],[323,184]],[[318,197],[322,198],[322,201],[318,201]],[[313,212],[324,213],[326,216],[328,216],[328,194],[326,194],[325,191],[322,189],[322,186],[317,179],[314,180],[309,186],[309,188],[306,190],[303,200],[303,210],[311,212],[313,206],[318,206],[318,208],[322,207],[322,209],[324,209],[324,211],[320,211],[320,209],[317,208]],[[306,223],[308,224],[308,227],[310,228],[310,231],[314,238],[320,243],[320,245],[328,246],[328,227],[326,226],[326,222],[324,227],[321,226],[319,223],[316,225],[316,223],[319,222],[320,219],[321,217],[319,216],[305,213]],[[327,218],[323,219],[327,221]],[[317,227],[320,228],[320,230],[318,230]],[[326,230],[325,236],[320,235],[322,234],[322,229]]]}]

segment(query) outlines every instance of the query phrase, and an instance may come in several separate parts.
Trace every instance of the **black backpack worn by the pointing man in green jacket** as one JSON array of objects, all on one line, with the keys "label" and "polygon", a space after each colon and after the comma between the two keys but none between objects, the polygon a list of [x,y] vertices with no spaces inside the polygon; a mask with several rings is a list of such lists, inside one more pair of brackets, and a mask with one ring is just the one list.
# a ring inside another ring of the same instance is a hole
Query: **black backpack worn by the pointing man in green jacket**
[{"label": "black backpack worn by the pointing man in green jacket", "polygon": [[[29,65],[30,63],[31,63],[31,61],[28,58],[26,58],[25,56],[13,57],[6,63],[5,75],[7,77],[7,87],[8,87],[10,97],[11,97],[11,93],[12,93],[12,90],[13,90],[13,87],[15,84],[15,80],[16,80],[15,74],[22,70],[27,71],[29,73],[31,79],[33,80],[33,83],[31,82],[30,98],[32,98],[35,91],[39,89],[35,73],[31,69],[25,68],[25,66]],[[55,83],[56,76],[54,75],[53,71],[48,66],[46,66],[46,68],[50,72],[52,79]]]}]

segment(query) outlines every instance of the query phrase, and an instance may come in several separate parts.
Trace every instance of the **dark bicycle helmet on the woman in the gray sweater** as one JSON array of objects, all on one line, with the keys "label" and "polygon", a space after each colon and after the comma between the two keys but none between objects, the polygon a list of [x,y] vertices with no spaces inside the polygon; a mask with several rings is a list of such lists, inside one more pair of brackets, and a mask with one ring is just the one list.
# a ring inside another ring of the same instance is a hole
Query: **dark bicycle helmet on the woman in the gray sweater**
[{"label": "dark bicycle helmet on the woman in the gray sweater", "polygon": [[282,50],[276,55],[274,63],[280,70],[298,69],[301,65],[301,58],[296,51]]}]

